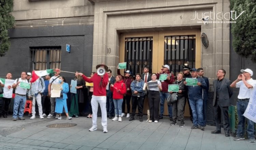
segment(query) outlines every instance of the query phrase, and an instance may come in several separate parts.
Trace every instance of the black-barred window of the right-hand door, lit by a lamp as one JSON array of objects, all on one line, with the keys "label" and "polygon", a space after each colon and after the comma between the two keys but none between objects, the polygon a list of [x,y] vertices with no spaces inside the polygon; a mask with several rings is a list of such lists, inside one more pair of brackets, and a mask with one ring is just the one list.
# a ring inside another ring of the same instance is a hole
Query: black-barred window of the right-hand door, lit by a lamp
[{"label": "black-barred window of the right-hand door, lit by a lamp", "polygon": [[182,72],[183,65],[195,67],[196,35],[165,36],[165,64],[170,65],[174,75]]}]

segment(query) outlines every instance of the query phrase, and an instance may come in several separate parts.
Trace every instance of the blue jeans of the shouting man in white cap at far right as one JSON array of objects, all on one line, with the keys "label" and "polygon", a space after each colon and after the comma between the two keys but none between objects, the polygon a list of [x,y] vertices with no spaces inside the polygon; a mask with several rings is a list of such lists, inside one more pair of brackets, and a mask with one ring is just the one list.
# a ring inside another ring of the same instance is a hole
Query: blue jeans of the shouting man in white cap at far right
[{"label": "blue jeans of the shouting man in white cap at far right", "polygon": [[[245,109],[249,100],[247,101],[237,101],[237,116],[238,116],[238,125],[237,125],[237,136],[242,137],[244,135],[244,126],[245,126],[245,117],[243,116]],[[247,119],[247,134],[248,138],[254,138],[254,122]]]}]

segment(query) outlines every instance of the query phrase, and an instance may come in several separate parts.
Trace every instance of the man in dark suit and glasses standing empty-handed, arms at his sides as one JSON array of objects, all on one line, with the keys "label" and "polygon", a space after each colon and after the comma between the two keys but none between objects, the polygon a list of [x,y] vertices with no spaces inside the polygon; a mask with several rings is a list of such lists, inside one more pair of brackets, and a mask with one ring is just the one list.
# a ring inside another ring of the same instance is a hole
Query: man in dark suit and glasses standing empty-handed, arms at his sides
[{"label": "man in dark suit and glasses standing empty-handed, arms at his sides", "polygon": [[[233,91],[230,87],[230,80],[225,78],[226,71],[220,69],[217,72],[217,78],[213,81],[214,96],[213,106],[216,120],[216,130],[212,131],[212,134],[221,133],[221,122],[223,122],[223,128],[225,136],[229,137],[229,117],[228,107],[230,106],[230,97]],[[222,120],[223,119],[223,120]]]}]

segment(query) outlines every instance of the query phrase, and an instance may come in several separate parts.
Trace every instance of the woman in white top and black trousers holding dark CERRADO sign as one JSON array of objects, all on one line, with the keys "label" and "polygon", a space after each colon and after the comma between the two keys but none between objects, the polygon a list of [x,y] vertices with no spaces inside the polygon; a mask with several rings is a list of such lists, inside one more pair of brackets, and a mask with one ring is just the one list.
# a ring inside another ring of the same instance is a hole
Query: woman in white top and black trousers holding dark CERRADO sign
[{"label": "woman in white top and black trousers holding dark CERRADO sign", "polygon": [[162,91],[162,84],[156,79],[156,74],[151,75],[151,81],[147,82],[148,85],[148,108],[150,109],[150,120],[148,122],[154,121],[158,122],[158,112],[160,103],[160,93]]}]

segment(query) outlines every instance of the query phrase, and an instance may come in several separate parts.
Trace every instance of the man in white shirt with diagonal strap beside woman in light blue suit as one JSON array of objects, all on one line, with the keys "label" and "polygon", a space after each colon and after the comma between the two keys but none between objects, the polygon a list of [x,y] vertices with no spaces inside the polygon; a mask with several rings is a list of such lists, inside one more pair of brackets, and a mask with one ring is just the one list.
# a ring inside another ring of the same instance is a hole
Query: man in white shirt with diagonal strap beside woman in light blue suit
[{"label": "man in white shirt with diagonal strap beside woman in light blue suit", "polygon": [[[48,85],[48,94],[51,97],[51,86],[52,84],[60,84],[58,78],[60,77],[60,70],[56,68],[54,70],[54,76],[51,77],[49,80],[49,85]],[[55,114],[55,97],[50,98],[51,101],[51,113],[47,116],[47,118],[52,118]],[[59,118],[59,115],[56,115],[55,118]]]}]

